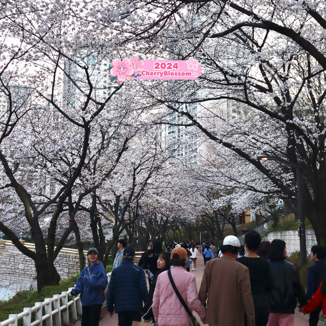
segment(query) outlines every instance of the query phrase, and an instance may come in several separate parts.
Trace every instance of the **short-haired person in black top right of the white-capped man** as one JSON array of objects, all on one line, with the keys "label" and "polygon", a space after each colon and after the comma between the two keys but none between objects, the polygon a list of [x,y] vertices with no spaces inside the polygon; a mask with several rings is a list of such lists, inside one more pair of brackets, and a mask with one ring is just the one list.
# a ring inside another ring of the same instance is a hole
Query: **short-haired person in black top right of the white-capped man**
[{"label": "short-haired person in black top right of the white-capped man", "polygon": [[[258,232],[251,230],[244,235],[244,249],[247,254],[237,259],[238,262],[249,268],[251,294],[255,307],[255,325],[266,326],[270,311],[268,295],[273,290],[273,279],[269,263],[266,259],[257,255],[261,236]],[[247,318],[244,316],[244,325]]]}]

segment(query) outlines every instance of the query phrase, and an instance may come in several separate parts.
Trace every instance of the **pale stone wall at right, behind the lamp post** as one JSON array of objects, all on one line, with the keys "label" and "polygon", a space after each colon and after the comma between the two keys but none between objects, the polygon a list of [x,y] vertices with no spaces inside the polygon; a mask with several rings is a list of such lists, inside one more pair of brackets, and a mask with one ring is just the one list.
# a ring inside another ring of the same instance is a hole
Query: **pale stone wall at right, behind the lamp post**
[{"label": "pale stone wall at right, behind the lamp post", "polygon": [[[274,239],[285,241],[288,255],[295,251],[300,251],[300,238],[298,237],[297,231],[270,232],[264,237],[264,240],[268,241],[273,241]],[[314,230],[306,230],[307,255],[310,254],[310,248],[314,244],[317,244]]]}]

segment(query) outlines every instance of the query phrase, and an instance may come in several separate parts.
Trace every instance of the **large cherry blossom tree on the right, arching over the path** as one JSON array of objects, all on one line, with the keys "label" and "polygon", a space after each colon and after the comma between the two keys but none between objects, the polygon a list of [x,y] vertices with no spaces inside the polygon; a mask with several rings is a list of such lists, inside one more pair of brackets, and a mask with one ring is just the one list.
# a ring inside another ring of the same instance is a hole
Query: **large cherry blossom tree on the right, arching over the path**
[{"label": "large cherry blossom tree on the right, arching over the path", "polygon": [[[165,83],[163,90],[153,83],[147,95],[155,103],[183,115],[244,165],[249,162],[272,191],[277,188],[294,203],[295,169],[262,164],[256,157],[264,153],[304,162],[305,211],[319,243],[326,242],[325,10],[323,1],[154,1],[132,2],[120,16],[128,22],[121,27],[128,42],[143,41],[153,56],[192,56],[202,65],[200,84],[192,88]],[[178,105],[207,100],[216,106],[227,101],[231,110],[239,110],[241,129],[234,133],[235,126],[227,123],[221,130],[224,117],[212,110],[198,117]]]}]

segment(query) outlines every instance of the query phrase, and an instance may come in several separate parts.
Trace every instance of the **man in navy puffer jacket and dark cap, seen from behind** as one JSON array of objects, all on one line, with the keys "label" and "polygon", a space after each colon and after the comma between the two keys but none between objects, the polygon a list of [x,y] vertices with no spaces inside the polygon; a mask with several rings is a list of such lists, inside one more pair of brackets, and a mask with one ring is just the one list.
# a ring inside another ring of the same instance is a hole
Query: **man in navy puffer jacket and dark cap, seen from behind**
[{"label": "man in navy puffer jacket and dark cap, seen from behind", "polygon": [[147,298],[144,271],[133,263],[134,250],[124,250],[122,263],[112,271],[107,288],[106,308],[113,316],[118,313],[119,326],[131,326],[132,320],[141,321],[141,310]]}]

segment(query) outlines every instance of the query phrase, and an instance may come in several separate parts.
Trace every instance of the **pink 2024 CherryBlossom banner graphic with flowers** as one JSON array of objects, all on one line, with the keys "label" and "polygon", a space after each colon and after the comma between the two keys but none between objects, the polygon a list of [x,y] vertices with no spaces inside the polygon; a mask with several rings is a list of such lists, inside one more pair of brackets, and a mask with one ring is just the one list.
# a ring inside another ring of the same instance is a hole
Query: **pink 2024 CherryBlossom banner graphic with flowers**
[{"label": "pink 2024 CherryBlossom banner graphic with flowers", "polygon": [[188,60],[144,60],[142,56],[114,60],[110,75],[123,83],[126,79],[197,79],[202,71],[192,57]]}]

